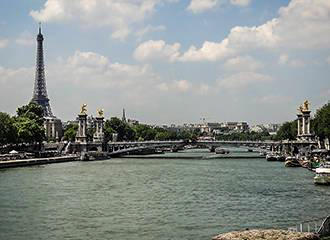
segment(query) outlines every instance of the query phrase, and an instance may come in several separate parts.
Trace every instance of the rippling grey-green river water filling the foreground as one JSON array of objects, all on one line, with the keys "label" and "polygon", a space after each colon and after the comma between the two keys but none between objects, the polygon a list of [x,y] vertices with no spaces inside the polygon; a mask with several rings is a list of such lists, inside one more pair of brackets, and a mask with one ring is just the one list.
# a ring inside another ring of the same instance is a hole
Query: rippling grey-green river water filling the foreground
[{"label": "rippling grey-green river water filling the foreground", "polygon": [[0,239],[202,240],[330,215],[330,187],[315,186],[305,169],[177,155],[188,158],[1,170]]}]

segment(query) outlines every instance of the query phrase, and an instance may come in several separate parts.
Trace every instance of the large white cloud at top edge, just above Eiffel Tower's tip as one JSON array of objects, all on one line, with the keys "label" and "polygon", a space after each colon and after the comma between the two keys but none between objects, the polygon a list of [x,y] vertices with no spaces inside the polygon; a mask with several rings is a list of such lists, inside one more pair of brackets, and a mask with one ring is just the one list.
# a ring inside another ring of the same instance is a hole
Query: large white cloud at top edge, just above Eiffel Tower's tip
[{"label": "large white cloud at top edge, just above Eiffel Tower's tip", "polygon": [[78,22],[83,26],[111,26],[112,37],[123,40],[132,26],[152,15],[158,4],[176,0],[47,0],[30,15],[41,22]]}]

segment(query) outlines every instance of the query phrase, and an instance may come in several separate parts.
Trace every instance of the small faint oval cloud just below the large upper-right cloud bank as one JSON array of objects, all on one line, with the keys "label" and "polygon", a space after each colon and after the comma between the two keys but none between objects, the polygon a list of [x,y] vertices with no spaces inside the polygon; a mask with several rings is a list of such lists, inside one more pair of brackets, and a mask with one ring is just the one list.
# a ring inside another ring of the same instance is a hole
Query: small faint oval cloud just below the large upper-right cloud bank
[{"label": "small faint oval cloud just below the large upper-right cloud bank", "polygon": [[224,67],[229,71],[253,72],[262,67],[262,64],[251,56],[238,56],[228,59]]}]

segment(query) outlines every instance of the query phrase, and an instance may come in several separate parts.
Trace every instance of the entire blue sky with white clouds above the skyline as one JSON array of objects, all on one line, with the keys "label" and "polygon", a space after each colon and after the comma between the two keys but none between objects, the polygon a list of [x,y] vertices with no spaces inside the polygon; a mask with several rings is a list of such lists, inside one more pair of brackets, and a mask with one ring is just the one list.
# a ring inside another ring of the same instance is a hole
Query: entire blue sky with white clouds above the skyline
[{"label": "entire blue sky with white clouds above the skyline", "polygon": [[0,111],[32,97],[45,37],[55,115],[283,122],[330,99],[329,0],[2,0]]}]

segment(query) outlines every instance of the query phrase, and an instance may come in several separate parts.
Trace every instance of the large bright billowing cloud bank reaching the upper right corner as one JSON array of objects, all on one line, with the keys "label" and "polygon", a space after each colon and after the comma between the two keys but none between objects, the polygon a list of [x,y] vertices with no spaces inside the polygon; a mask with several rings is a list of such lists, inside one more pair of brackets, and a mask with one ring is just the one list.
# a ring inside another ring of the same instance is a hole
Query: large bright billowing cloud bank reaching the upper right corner
[{"label": "large bright billowing cloud bank reaching the upper right corner", "polygon": [[330,1],[292,0],[279,10],[277,18],[260,26],[236,26],[220,43],[205,41],[201,48],[192,46],[181,59],[215,61],[255,49],[328,49],[329,32]]}]

